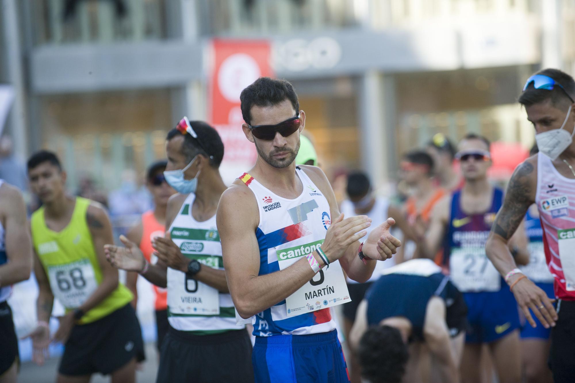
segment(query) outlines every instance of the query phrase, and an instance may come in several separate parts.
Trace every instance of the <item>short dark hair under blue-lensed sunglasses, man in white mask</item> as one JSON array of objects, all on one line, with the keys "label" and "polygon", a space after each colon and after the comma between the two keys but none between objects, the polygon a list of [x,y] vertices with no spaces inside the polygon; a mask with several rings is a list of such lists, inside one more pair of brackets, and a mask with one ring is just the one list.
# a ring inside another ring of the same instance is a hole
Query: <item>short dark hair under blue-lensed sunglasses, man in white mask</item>
[{"label": "short dark hair under blue-lensed sunglasses, man in white mask", "polygon": [[526,90],[522,91],[519,98],[517,98],[519,104],[523,106],[531,106],[547,100],[550,100],[553,106],[565,104],[566,102],[572,104],[572,101],[565,94],[566,92],[572,99],[575,99],[575,81],[572,76],[554,68],[546,68],[540,70],[536,74],[545,75],[554,79],[561,84],[565,91],[558,86],[551,90],[535,89],[534,84],[531,83]]}]

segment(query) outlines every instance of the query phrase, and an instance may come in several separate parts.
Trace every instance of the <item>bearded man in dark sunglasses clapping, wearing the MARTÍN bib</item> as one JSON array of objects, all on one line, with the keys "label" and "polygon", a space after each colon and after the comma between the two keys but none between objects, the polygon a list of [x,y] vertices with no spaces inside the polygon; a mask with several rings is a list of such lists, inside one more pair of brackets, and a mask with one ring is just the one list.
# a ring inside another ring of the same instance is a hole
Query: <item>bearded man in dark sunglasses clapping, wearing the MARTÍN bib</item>
[{"label": "bearded man in dark sunglasses clapping, wearing the MART\u00cdN bib", "polygon": [[394,220],[359,243],[371,220],[345,218],[323,171],[296,166],[305,113],[289,82],[259,78],[240,100],[258,158],[222,194],[216,219],[233,302],[254,317],[255,380],[348,382],[331,307],[350,300],[342,269],[365,282],[396,252]]}]

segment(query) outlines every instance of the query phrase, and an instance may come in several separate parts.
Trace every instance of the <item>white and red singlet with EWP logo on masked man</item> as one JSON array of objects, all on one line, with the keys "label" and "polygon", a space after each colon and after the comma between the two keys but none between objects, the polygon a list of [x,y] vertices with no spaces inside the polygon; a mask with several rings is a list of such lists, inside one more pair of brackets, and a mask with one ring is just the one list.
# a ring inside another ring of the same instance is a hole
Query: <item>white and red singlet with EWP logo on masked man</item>
[{"label": "white and red singlet with EWP logo on masked man", "polygon": [[535,202],[555,296],[575,300],[575,179],[561,175],[543,154],[537,156]]}]

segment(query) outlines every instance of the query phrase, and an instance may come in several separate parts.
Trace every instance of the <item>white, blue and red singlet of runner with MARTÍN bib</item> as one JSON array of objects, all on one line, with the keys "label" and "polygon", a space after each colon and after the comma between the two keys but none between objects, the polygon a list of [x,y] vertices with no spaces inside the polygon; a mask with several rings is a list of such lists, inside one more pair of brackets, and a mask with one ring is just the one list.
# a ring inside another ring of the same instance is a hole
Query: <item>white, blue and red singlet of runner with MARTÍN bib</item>
[{"label": "white, blue and red singlet of runner with MART\u00cdN bib", "polygon": [[[323,243],[331,224],[327,199],[300,167],[296,167],[296,175],[302,182],[303,191],[294,200],[277,196],[250,174],[239,177],[258,201],[259,275],[283,270],[314,251]],[[305,300],[304,294],[309,299]],[[295,310],[287,308],[286,301],[289,300],[292,307],[296,296],[300,297],[298,302],[301,304]],[[331,308],[327,306],[333,304],[334,297],[338,304],[351,301],[339,261],[332,262],[329,269],[324,267],[286,300],[255,315],[254,335],[306,335],[331,331],[336,324]]]}]

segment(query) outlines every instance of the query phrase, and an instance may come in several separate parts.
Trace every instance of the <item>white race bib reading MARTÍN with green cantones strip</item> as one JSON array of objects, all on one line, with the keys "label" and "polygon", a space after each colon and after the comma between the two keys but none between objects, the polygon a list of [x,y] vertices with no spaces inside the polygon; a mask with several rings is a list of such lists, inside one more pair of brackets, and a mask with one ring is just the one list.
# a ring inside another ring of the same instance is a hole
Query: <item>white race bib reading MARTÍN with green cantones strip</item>
[{"label": "white race bib reading MART\u00cdN with green cantones strip", "polygon": [[[277,250],[279,269],[283,270],[300,260],[302,256],[321,246],[321,241],[303,246]],[[287,316],[297,316],[306,312],[337,306],[351,302],[339,261],[332,262],[329,269],[320,270],[312,279],[286,298]]]}]

